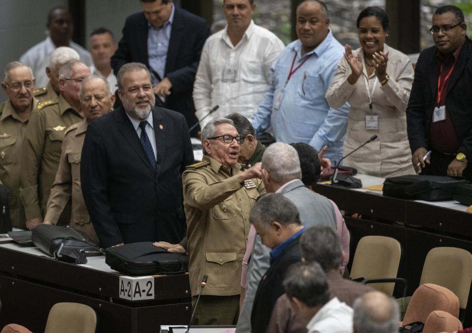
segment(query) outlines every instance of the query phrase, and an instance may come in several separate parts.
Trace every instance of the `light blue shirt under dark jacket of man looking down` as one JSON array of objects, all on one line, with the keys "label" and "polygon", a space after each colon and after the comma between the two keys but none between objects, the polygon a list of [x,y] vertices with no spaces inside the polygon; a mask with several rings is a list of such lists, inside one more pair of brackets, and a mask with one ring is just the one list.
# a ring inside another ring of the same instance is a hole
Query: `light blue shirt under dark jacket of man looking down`
[{"label": "light blue shirt under dark jacket of man looking down", "polygon": [[[154,28],[148,23],[148,61],[149,66],[159,74],[161,80],[164,79],[166,71],[167,50],[171,38],[172,22],[174,21],[175,6],[172,5],[172,12],[169,20],[161,28]],[[152,84],[159,83],[160,80],[151,73]]]}]

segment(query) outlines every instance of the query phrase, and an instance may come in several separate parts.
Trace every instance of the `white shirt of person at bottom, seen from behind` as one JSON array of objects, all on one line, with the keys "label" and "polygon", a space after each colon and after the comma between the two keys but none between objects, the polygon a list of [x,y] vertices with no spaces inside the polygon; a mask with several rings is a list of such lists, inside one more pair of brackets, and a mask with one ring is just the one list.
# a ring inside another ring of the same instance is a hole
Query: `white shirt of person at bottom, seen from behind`
[{"label": "white shirt of person at bottom, seen from behind", "polygon": [[352,333],[353,313],[352,307],[334,297],[311,318],[306,329],[308,333]]}]

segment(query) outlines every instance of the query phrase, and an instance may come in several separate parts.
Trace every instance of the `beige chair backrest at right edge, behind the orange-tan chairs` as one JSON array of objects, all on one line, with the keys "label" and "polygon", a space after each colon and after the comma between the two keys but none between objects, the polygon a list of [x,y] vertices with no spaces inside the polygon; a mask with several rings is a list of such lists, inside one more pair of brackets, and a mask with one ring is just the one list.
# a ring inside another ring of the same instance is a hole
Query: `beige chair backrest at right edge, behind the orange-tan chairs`
[{"label": "beige chair backrest at right edge, behind the orange-tan chairs", "polygon": [[434,283],[459,297],[460,307],[467,307],[472,280],[472,254],[458,248],[434,248],[426,255],[420,284]]}]

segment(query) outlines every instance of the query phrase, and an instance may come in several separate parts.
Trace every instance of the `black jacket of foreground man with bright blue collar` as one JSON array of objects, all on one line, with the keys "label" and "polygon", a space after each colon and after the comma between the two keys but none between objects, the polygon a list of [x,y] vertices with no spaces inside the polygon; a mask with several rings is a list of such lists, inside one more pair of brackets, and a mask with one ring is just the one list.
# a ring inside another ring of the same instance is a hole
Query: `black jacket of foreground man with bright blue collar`
[{"label": "black jacket of foreground man with bright blue collar", "polygon": [[252,333],[266,333],[275,302],[285,293],[282,285],[285,273],[292,264],[301,260],[300,237],[301,235],[298,235],[275,259],[259,282],[252,305]]}]

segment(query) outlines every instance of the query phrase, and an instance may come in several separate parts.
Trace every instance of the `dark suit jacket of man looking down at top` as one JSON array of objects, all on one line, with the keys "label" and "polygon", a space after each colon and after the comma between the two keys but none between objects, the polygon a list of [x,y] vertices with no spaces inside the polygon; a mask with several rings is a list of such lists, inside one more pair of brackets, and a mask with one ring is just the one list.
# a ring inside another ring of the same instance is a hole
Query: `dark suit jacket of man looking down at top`
[{"label": "dark suit jacket of man looking down at top", "polygon": [[[111,59],[115,74],[128,62],[141,62],[149,68],[148,21],[144,13],[128,16],[122,32],[118,50]],[[172,83],[166,108],[185,115],[189,127],[198,121],[192,91],[202,48],[209,33],[204,19],[175,7],[165,68],[165,76]]]}]

